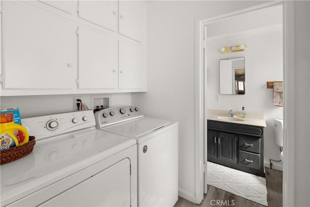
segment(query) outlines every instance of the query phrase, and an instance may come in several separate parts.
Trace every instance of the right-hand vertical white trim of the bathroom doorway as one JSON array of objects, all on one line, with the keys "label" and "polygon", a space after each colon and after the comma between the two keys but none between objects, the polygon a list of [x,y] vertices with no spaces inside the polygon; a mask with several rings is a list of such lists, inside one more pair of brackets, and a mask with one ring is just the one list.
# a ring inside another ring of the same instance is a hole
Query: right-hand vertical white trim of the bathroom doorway
[{"label": "right-hand vertical white trim of the bathroom doorway", "polygon": [[[295,111],[294,111],[294,1],[283,3],[283,207],[295,202]],[[291,49],[290,49],[291,48]],[[288,69],[290,68],[290,70]],[[288,87],[288,85],[290,87]],[[287,117],[293,117],[288,119]],[[288,128],[288,126],[290,126]]]}]

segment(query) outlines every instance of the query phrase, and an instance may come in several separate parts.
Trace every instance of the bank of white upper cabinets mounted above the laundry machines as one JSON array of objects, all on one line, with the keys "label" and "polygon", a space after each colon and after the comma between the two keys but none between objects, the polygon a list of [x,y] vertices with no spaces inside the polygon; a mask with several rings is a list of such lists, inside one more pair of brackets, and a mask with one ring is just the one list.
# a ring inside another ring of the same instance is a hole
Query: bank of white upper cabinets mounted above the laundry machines
[{"label": "bank of white upper cabinets mounted above the laundry machines", "polygon": [[2,0],[1,96],[146,91],[146,2]]}]

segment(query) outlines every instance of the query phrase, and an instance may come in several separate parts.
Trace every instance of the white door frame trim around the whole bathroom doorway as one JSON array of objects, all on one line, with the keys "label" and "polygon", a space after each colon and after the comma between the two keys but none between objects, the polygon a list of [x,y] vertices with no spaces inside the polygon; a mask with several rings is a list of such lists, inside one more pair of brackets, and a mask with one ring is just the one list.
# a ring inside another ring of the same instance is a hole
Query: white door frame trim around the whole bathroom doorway
[{"label": "white door frame trim around the whole bathroom doorway", "polygon": [[[288,65],[289,63],[294,63],[294,61],[290,61],[288,62],[287,57],[287,48],[288,48],[288,43],[292,43],[289,42],[289,39],[292,38],[292,34],[294,37],[294,32],[293,31],[286,31],[287,30],[287,12],[285,11],[285,9],[287,9],[287,4],[286,1],[271,1],[268,3],[264,3],[261,5],[257,5],[254,7],[250,7],[247,9],[243,9],[243,10],[239,10],[239,11],[235,11],[229,14],[225,14],[225,15],[221,15],[221,16],[215,16],[212,18],[208,18],[208,16],[204,15],[204,16],[198,16],[195,18],[195,188],[196,188],[196,203],[199,204],[199,200],[201,198],[201,196],[203,196],[203,188],[201,188],[201,183],[203,183],[203,156],[201,154],[201,152],[203,152],[203,130],[204,127],[207,127],[207,124],[205,124],[205,126],[202,126],[203,123],[203,117],[204,117],[204,111],[203,111],[203,107],[204,106],[204,91],[206,91],[207,88],[207,84],[206,82],[205,87],[203,88],[203,52],[202,52],[202,40],[203,40],[203,27],[206,26],[207,24],[210,24],[212,22],[215,21],[219,21],[225,18],[229,18],[231,16],[234,15],[239,15],[239,14],[243,14],[243,13],[247,13],[250,11],[255,11],[258,9],[263,9],[266,7],[270,7],[270,6],[276,6],[282,4],[283,5],[283,54],[284,54],[284,69],[283,69],[283,74],[284,74],[284,82],[290,82],[290,87],[291,88],[287,88],[284,86],[284,130],[287,130],[288,123],[286,123],[285,121],[285,117],[290,116],[290,117],[294,117],[294,110],[289,110],[289,109],[294,109],[294,98],[292,98],[291,96],[294,96],[294,74],[293,76],[291,76],[293,73],[292,71],[288,71],[288,67],[291,65]],[[290,4],[292,4],[290,2]],[[285,9],[284,9],[285,8]],[[290,14],[292,14],[292,8],[289,7],[290,9]],[[293,8],[294,10],[294,8]],[[294,13],[293,13],[294,14]],[[291,17],[291,16],[290,16]],[[289,35],[288,35],[288,32]],[[294,48],[294,47],[293,47]],[[292,50],[294,52],[294,50]],[[288,73],[289,76],[288,76]],[[289,78],[288,78],[289,77]],[[206,79],[207,81],[207,79]],[[293,90],[293,93],[292,93]],[[288,98],[286,96],[288,96],[288,94],[290,95],[290,99],[291,101],[289,102]],[[288,103],[289,102],[289,103]],[[292,103],[291,103],[292,102]],[[206,109],[206,108],[205,108]],[[293,145],[292,142],[294,141],[294,139],[288,140],[288,133],[289,135],[293,136],[294,135],[294,119],[289,121],[290,123],[290,130],[291,131],[284,131],[284,151],[286,151],[286,153],[284,153],[284,162],[283,165],[286,166],[286,168],[284,168],[284,170],[286,171],[283,174],[283,206],[294,206],[294,167],[291,166],[294,165],[294,143]],[[291,124],[293,123],[293,127],[291,127]],[[200,145],[201,144],[201,145]],[[288,149],[288,146],[290,146],[290,149]],[[207,153],[207,152],[205,152]],[[288,157],[290,156],[290,159],[288,159]],[[292,161],[293,160],[293,161]],[[288,165],[290,166],[290,169],[288,168]],[[207,170],[207,167],[206,167]],[[284,177],[285,176],[285,177]],[[290,177],[290,179],[288,179]],[[285,179],[284,179],[285,178]]]}]

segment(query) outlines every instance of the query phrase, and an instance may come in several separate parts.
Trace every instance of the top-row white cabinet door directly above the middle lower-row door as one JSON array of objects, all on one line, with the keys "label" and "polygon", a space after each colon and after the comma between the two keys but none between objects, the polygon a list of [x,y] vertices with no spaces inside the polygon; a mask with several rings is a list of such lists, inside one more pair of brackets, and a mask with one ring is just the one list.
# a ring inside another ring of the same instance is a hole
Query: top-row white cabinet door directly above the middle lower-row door
[{"label": "top-row white cabinet door directly above the middle lower-row door", "polygon": [[79,0],[78,17],[113,32],[117,30],[117,0]]}]

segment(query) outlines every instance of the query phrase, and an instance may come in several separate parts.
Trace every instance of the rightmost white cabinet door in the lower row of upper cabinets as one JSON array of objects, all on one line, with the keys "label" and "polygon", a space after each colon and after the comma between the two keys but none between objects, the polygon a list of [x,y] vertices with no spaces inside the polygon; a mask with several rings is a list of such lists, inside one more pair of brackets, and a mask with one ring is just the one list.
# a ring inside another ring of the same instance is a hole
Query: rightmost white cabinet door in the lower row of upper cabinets
[{"label": "rightmost white cabinet door in the lower row of upper cabinets", "polygon": [[142,89],[145,79],[142,48],[119,42],[119,89]]}]

